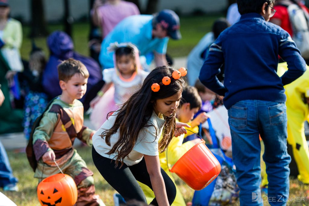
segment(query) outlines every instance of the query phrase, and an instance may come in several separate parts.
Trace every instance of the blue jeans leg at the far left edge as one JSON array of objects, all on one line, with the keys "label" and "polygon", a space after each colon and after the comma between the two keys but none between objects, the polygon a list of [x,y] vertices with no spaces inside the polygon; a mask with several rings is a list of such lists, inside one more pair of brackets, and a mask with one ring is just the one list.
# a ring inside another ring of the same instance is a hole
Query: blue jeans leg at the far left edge
[{"label": "blue jeans leg at the far left edge", "polygon": [[16,184],[18,180],[13,176],[9,158],[0,141],[0,187],[8,184]]}]

